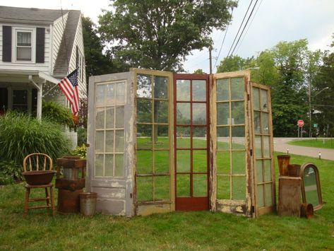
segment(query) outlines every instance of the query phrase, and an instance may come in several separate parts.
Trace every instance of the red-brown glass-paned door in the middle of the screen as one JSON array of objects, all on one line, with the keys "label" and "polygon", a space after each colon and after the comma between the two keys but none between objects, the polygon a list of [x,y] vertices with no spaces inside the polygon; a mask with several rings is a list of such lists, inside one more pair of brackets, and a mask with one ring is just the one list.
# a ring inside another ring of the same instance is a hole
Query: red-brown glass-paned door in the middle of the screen
[{"label": "red-brown glass-paned door in the middle of the screen", "polygon": [[176,210],[209,209],[209,76],[174,74]]}]

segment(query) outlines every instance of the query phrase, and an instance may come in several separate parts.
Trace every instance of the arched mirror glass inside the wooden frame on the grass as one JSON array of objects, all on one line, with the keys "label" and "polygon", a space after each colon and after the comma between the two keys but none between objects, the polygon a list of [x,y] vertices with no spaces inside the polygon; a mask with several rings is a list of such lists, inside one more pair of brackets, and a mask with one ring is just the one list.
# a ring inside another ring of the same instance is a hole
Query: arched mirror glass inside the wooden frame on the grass
[{"label": "arched mirror glass inside the wooden frame on the grass", "polygon": [[318,206],[318,185],[316,182],[316,171],[314,168],[306,167],[303,173],[304,185],[305,185],[305,197],[306,202],[313,206]]}]

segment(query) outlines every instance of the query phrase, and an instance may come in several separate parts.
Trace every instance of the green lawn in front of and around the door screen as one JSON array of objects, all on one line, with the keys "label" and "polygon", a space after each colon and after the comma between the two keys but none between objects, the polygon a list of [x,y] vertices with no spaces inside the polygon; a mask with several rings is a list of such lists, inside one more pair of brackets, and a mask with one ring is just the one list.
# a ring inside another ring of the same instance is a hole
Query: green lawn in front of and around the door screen
[{"label": "green lawn in front of and around the door screen", "polygon": [[45,209],[24,218],[24,184],[0,187],[0,250],[333,250],[334,162],[292,156],[304,162],[318,166],[326,202],[311,220],[210,211],[52,217]]}]

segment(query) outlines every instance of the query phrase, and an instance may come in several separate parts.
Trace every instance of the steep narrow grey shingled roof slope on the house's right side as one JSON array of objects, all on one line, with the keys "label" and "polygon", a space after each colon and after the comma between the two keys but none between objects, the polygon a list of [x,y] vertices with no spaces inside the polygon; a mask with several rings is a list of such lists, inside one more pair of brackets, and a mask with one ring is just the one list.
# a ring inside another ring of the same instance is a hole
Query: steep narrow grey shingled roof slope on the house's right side
[{"label": "steep narrow grey shingled roof slope on the house's right side", "polygon": [[68,64],[71,60],[79,18],[80,11],[69,11],[64,35],[61,39],[58,56],[54,64],[54,76],[66,76],[68,74]]}]

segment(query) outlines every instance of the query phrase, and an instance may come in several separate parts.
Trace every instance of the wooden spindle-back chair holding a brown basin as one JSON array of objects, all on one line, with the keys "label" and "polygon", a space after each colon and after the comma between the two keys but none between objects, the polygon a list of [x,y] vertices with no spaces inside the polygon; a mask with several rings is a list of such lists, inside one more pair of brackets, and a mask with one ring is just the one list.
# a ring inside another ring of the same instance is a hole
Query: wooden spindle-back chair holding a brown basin
[{"label": "wooden spindle-back chair holding a brown basin", "polygon": [[[44,158],[43,158],[44,157]],[[27,163],[29,163],[29,169],[27,168]],[[42,164],[42,165],[40,165]],[[52,170],[52,158],[44,153],[31,153],[26,156],[23,160],[23,170],[24,172],[31,172],[33,170]],[[33,198],[30,199],[30,189],[34,188],[44,188],[45,189],[45,197],[44,198]],[[48,188],[50,189],[50,194],[48,192]],[[46,201],[46,206],[30,206],[28,207],[29,202],[38,202],[38,201]],[[24,215],[26,216],[28,213],[28,209],[43,209],[43,208],[51,208],[52,215],[56,214],[54,207],[54,190],[52,182],[46,185],[29,185],[25,184],[25,204],[24,204]]]}]

